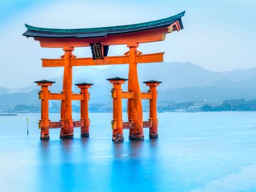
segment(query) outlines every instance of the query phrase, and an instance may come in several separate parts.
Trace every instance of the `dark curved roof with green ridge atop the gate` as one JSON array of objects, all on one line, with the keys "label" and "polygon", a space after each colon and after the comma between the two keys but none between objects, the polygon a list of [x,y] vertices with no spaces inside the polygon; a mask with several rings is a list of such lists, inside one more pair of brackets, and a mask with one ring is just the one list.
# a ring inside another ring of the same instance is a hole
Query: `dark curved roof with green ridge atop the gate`
[{"label": "dark curved roof with green ridge atop the gate", "polygon": [[25,24],[28,29],[24,36],[31,37],[44,37],[44,38],[93,38],[106,35],[132,33],[136,31],[144,31],[148,29],[163,28],[170,26],[179,20],[180,28],[183,29],[181,17],[185,12],[181,12],[172,17],[165,19],[154,20],[150,22],[143,22],[139,24],[131,24],[125,26],[112,26],[104,28],[83,28],[83,29],[50,29],[50,28],[36,28]]}]

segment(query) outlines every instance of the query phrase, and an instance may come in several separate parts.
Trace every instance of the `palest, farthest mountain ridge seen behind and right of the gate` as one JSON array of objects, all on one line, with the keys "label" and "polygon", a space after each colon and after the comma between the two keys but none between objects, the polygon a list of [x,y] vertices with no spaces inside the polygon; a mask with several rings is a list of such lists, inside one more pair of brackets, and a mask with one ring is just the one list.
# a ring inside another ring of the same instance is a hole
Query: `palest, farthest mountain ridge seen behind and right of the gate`
[{"label": "palest, farthest mountain ridge seen behind and right of the gate", "polygon": [[[73,82],[79,83],[88,81],[94,83],[92,92],[101,95],[102,91],[109,90],[111,85],[106,81],[109,77],[128,77],[128,65],[115,65],[109,68],[99,69],[93,67],[74,68]],[[252,72],[253,71],[253,72]],[[138,76],[141,82],[141,90],[147,89],[142,81],[155,79],[163,81],[159,90],[170,88],[205,87],[219,86],[221,83],[229,81],[236,84],[241,81],[240,86],[248,86],[248,83],[256,79],[256,68],[233,70],[229,72],[213,72],[205,70],[193,63],[147,63],[138,64]],[[52,91],[60,92],[62,89],[63,77],[52,79],[56,84],[52,86]],[[254,86],[252,83],[250,84]],[[124,86],[125,87],[125,86]],[[74,86],[76,90],[76,86]]]}]

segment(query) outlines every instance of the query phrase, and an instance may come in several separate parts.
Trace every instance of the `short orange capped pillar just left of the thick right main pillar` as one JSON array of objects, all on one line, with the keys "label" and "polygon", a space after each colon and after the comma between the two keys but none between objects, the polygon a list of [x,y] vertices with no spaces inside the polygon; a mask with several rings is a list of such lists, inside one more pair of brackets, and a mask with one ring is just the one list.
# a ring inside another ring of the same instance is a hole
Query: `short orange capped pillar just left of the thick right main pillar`
[{"label": "short orange capped pillar just left of the thick right main pillar", "polygon": [[123,119],[122,119],[122,84],[127,81],[120,77],[107,79],[110,83],[113,83],[112,97],[113,97],[113,120],[112,129],[113,137],[112,141],[124,141],[123,136]]}]

